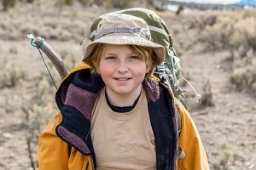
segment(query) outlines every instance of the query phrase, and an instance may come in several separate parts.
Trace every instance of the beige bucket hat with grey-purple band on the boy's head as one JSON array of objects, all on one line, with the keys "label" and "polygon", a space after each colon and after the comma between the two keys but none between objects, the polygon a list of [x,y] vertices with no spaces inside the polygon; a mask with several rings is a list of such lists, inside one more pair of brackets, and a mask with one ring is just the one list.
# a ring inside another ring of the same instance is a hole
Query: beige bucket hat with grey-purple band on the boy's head
[{"label": "beige bucket hat with grey-purple band on the boy's head", "polygon": [[156,58],[155,65],[164,61],[165,48],[152,42],[150,31],[145,20],[130,14],[105,14],[99,22],[93,42],[90,42],[84,49],[82,61],[92,65],[90,56],[98,43],[114,45],[138,45],[153,48]]}]

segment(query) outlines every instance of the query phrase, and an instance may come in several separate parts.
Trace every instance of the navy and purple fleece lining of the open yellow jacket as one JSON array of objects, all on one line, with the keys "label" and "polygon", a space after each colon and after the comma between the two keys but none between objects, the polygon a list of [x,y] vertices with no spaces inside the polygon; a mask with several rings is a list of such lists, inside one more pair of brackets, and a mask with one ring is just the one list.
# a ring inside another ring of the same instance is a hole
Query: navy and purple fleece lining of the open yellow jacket
[{"label": "navy and purple fleece lining of the open yellow jacket", "polygon": [[[55,96],[62,115],[55,133],[85,156],[90,155],[95,166],[90,122],[93,107],[103,87],[101,77],[92,76],[90,69],[82,69],[66,77]],[[143,88],[154,132],[157,169],[177,169],[178,138],[173,96],[168,88],[151,78],[143,81]]]}]

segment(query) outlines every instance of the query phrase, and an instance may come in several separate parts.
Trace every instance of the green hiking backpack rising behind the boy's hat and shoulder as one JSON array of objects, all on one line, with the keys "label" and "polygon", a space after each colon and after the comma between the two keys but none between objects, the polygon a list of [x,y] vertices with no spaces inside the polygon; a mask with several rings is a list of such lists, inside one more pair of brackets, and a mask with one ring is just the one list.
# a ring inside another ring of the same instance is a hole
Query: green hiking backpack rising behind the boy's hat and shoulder
[{"label": "green hiking backpack rising behind the boy's hat and shoulder", "polygon": [[[172,36],[166,26],[165,21],[162,20],[160,16],[155,14],[154,11],[148,10],[146,8],[128,8],[113,13],[131,14],[133,16],[140,17],[147,22],[153,42],[161,44],[166,49],[165,61],[163,64],[156,66],[154,76],[160,78],[160,82],[164,82],[167,86],[169,86],[173,94],[175,94],[176,98],[182,102],[185,108],[187,108],[187,105],[185,105],[183,99],[180,97],[181,95],[183,95],[183,91],[178,87],[177,82],[177,77],[179,76],[181,70],[181,66],[179,63],[180,59],[177,58],[175,49],[172,46]],[[97,18],[92,24],[92,26],[90,26],[89,39],[91,41],[94,40],[98,23],[103,18],[104,14]],[[177,116],[177,132],[179,136],[182,127],[180,114],[178,112],[178,105],[176,102],[175,107]],[[178,146],[178,150],[179,155],[177,159],[183,159],[183,157],[185,156],[183,149],[180,146]]]}]

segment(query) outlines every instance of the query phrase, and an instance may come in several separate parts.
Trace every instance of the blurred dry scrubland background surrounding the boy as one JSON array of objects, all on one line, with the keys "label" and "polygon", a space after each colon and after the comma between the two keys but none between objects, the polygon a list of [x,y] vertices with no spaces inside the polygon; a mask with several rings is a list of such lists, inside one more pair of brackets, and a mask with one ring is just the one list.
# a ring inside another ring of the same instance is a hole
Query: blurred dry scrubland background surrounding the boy
[{"label": "blurred dry scrubland background surrounding the boy", "polygon": [[[211,169],[256,169],[255,0],[2,0],[0,169],[36,169],[39,134],[58,111],[55,86],[26,35],[43,37],[72,71],[92,22],[133,7],[154,10],[172,33],[181,76],[202,96],[199,104],[180,81]],[[43,56],[58,85],[61,78]]]}]

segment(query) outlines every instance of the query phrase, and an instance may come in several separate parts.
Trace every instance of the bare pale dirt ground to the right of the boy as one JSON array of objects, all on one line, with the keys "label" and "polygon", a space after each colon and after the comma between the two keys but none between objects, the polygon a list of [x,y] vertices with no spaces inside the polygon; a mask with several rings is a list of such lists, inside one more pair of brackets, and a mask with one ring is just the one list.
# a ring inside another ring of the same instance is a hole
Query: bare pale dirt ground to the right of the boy
[{"label": "bare pale dirt ground to the right of the boy", "polygon": [[183,56],[183,68],[189,72],[190,82],[197,84],[195,88],[200,92],[208,80],[214,102],[214,106],[202,108],[195,104],[194,98],[194,105],[189,103],[192,106],[189,113],[198,127],[212,165],[221,160],[233,161],[238,155],[232,169],[256,169],[255,94],[232,88],[228,78],[229,65],[225,63],[229,55],[228,52],[220,52]]}]

